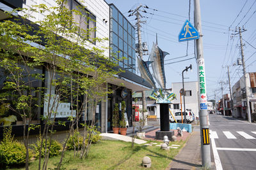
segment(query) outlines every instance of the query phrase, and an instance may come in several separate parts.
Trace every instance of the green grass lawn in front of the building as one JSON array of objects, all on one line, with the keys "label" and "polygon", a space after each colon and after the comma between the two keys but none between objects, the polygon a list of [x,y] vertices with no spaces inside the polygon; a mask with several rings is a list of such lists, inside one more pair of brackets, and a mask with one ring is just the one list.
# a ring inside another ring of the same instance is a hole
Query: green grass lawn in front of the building
[{"label": "green grass lawn in front of the building", "polygon": [[[157,141],[155,142],[160,145]],[[170,145],[180,145],[179,148],[161,150],[159,146],[136,145],[131,148],[131,143],[124,141],[102,140],[93,144],[87,159],[74,158],[73,151],[67,151],[63,159],[65,169],[144,169],[141,160],[148,156],[151,159],[151,169],[165,169],[171,160],[179,153],[185,141],[170,142]],[[54,164],[60,160],[60,156],[49,159],[48,168],[54,169]],[[24,168],[22,168],[24,169]],[[38,160],[31,162],[29,169],[38,169]]]}]

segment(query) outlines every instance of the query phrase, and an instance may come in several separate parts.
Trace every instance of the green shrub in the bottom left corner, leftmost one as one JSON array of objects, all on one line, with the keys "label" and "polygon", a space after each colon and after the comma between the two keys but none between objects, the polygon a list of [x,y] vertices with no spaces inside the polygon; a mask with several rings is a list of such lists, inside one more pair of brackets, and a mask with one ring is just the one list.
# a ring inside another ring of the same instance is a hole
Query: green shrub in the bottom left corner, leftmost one
[{"label": "green shrub in the bottom left corner, leftmost one", "polygon": [[0,142],[0,167],[22,166],[25,163],[25,146],[13,139],[12,127],[4,128],[3,141]]}]

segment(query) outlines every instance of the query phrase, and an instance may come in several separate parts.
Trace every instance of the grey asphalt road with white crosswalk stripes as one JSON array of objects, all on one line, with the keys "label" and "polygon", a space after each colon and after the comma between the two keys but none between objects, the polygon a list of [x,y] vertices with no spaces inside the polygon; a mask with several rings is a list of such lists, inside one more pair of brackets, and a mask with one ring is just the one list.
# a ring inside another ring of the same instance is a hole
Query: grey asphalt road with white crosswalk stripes
[{"label": "grey asphalt road with white crosswalk stripes", "polygon": [[209,115],[211,152],[216,169],[256,169],[256,124]]}]

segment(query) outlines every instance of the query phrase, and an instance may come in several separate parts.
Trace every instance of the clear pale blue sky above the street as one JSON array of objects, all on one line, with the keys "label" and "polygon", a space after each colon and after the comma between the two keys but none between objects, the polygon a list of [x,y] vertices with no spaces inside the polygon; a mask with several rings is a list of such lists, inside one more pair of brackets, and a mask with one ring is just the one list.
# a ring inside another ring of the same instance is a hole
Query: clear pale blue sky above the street
[{"label": "clear pale blue sky above the street", "polygon": [[[148,6],[141,8],[147,11],[147,13],[141,11],[143,16],[141,20],[146,21],[141,25],[142,41],[147,42],[148,52],[151,52],[157,33],[159,47],[170,53],[164,58],[167,89],[172,88],[173,82],[182,81],[181,73],[190,64],[193,69],[184,73],[184,81],[197,81],[194,41],[187,41],[188,43],[178,41],[184,22],[190,18],[193,24],[193,0],[106,0],[106,2],[115,4],[132,25],[136,24],[136,17],[128,17],[128,11],[134,10],[140,4]],[[229,94],[227,67],[230,70],[231,87],[243,76],[243,66],[236,66],[237,58],[241,58],[238,27],[242,30],[244,28],[241,34],[246,72],[256,72],[256,0],[200,1],[200,8],[207,98],[218,101],[221,98],[221,81],[224,82],[223,94]],[[148,55],[144,55],[143,60],[148,60]]]}]

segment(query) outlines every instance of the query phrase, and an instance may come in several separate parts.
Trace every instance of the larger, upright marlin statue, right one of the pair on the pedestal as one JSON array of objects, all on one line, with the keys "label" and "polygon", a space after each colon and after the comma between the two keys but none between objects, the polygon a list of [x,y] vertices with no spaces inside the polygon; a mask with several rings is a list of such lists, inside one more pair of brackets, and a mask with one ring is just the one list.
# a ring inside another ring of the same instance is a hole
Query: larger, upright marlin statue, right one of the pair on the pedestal
[{"label": "larger, upright marlin statue, right one of the pair on the pedestal", "polygon": [[168,52],[163,52],[159,46],[157,45],[157,38],[156,44],[153,42],[152,50],[150,53],[150,60],[152,62],[152,70],[154,78],[156,79],[157,83],[161,87],[161,89],[166,89],[166,78],[164,73],[164,57],[168,55]]}]

